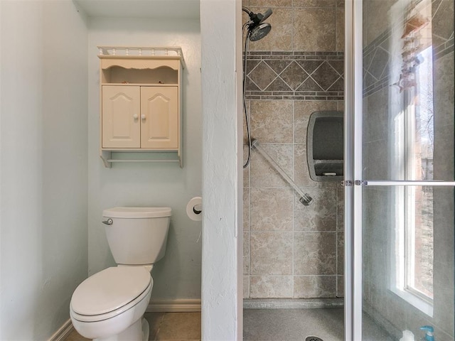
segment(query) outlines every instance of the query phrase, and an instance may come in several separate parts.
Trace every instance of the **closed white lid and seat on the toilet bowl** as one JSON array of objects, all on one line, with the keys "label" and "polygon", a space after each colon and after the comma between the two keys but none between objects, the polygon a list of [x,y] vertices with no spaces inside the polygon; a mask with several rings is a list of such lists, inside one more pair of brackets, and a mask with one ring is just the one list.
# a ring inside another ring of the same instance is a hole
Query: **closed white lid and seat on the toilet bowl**
[{"label": "closed white lid and seat on the toilet bowl", "polygon": [[108,268],[80,283],[70,310],[74,318],[85,322],[112,318],[139,303],[152,286],[149,272],[140,266]]}]

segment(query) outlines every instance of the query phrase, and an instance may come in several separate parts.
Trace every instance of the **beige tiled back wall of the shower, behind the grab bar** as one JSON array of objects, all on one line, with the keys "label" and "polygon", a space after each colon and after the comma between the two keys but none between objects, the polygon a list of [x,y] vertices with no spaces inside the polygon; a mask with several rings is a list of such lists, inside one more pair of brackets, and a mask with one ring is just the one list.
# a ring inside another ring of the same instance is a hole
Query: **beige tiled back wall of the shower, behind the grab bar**
[{"label": "beige tiled back wall of the shower, behind the grab bar", "polygon": [[313,205],[301,205],[252,151],[244,171],[244,298],[343,296],[343,188],[309,177],[306,126],[312,112],[343,111],[344,1],[243,5],[273,11],[272,31],[250,42],[247,55],[251,136],[314,198]]}]

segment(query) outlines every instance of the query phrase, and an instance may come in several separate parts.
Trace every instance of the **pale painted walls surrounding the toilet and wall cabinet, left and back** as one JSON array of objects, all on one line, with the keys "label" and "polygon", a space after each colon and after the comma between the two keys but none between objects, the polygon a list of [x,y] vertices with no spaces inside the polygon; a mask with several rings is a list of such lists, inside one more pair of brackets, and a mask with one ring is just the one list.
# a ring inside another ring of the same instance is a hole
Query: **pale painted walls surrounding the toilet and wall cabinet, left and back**
[{"label": "pale painted walls surrounding the toilet and wall cabinet, left and back", "polygon": [[[172,207],[152,299],[199,298],[200,223],[185,213],[201,187],[199,21],[92,18],[87,30],[69,0],[1,0],[0,25],[0,339],[45,340],[68,320],[75,287],[114,265],[100,220],[116,205]],[[102,166],[103,44],[183,48],[183,169]]]}]

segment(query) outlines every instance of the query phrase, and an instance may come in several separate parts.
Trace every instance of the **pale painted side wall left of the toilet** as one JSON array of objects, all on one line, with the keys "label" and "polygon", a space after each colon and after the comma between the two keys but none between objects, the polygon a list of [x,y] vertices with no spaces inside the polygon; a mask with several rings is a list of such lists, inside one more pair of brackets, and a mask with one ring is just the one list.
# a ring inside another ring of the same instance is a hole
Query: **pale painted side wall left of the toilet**
[{"label": "pale painted side wall left of the toilet", "polygon": [[0,9],[0,339],[45,340],[87,276],[87,27],[69,0]]}]

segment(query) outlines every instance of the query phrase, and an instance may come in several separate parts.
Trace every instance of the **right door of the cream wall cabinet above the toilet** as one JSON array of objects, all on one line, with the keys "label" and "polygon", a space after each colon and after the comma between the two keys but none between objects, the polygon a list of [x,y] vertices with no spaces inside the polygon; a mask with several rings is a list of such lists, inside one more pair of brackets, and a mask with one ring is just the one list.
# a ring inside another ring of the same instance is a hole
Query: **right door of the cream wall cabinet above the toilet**
[{"label": "right door of the cream wall cabinet above the toilet", "polygon": [[178,87],[141,87],[141,148],[178,148]]}]

